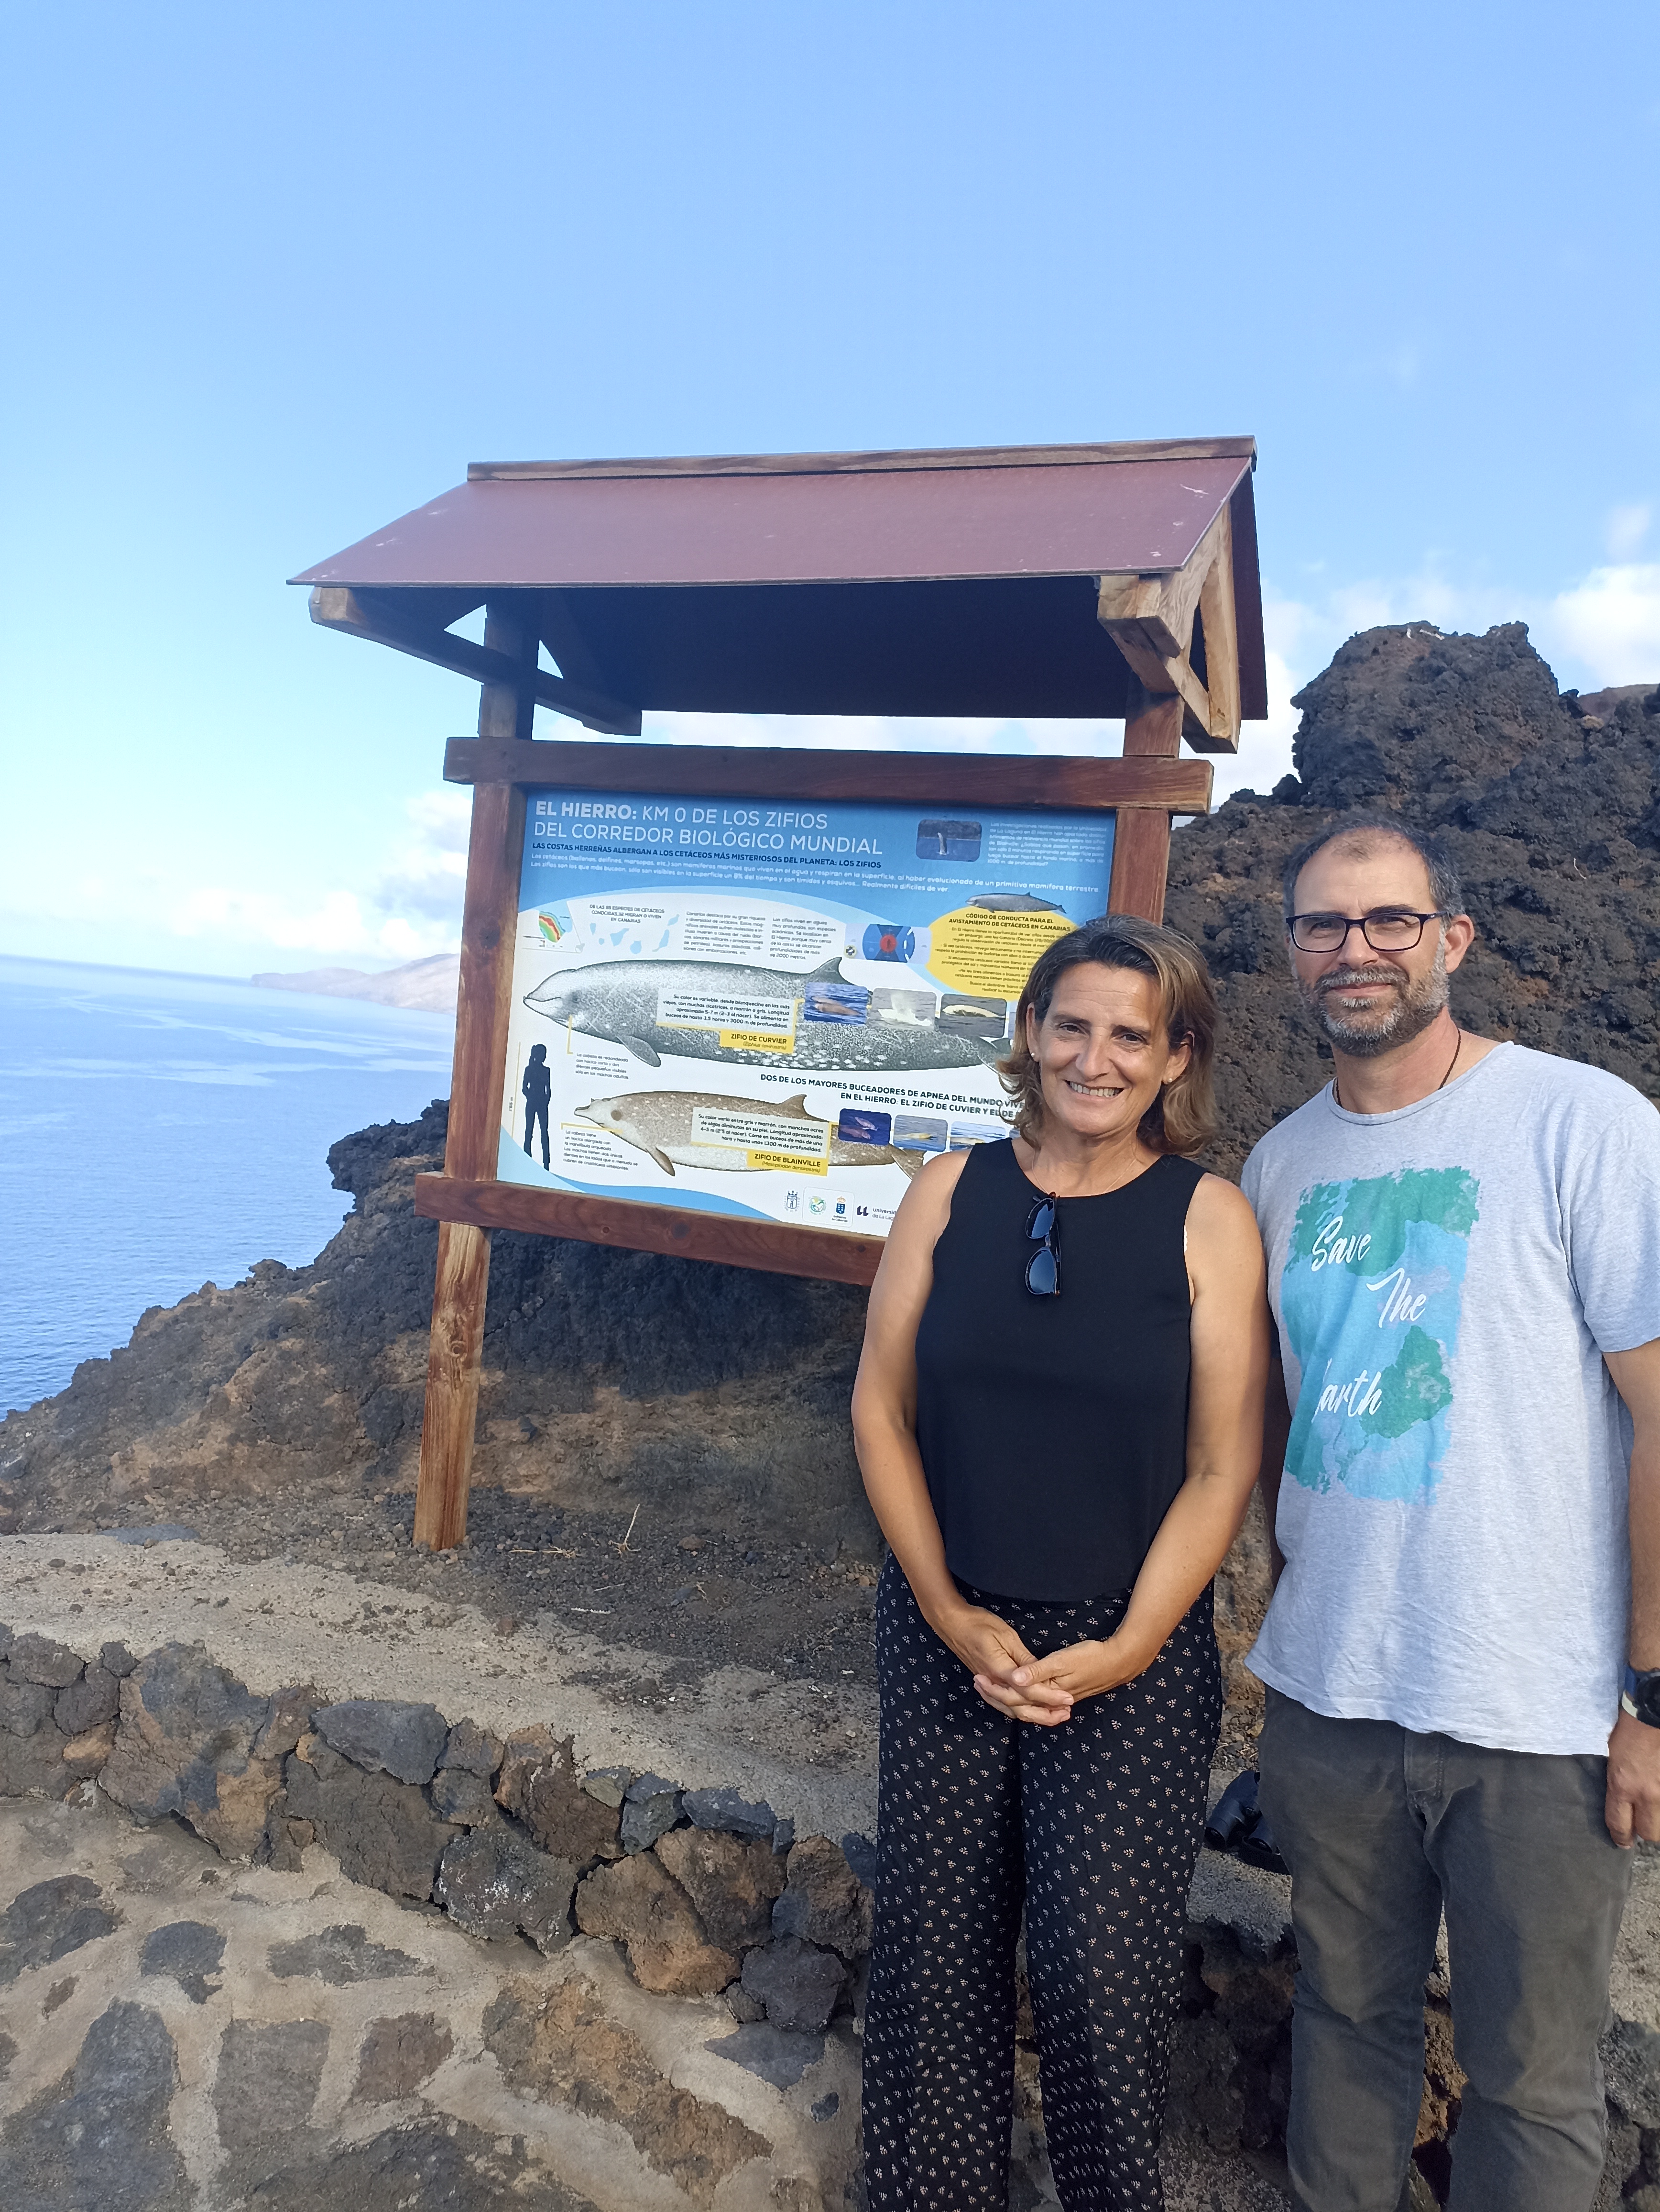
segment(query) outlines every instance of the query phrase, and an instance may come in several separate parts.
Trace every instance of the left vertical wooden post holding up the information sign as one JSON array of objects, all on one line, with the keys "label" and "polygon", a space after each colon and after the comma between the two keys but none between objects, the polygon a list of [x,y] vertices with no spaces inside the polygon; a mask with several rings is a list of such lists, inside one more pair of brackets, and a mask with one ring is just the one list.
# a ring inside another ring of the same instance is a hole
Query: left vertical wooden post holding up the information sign
[{"label": "left vertical wooden post holding up the information sign", "polygon": [[[477,734],[528,739],[539,644],[535,617],[515,606],[486,606],[484,644],[508,655],[519,675],[513,684],[482,686]],[[495,1177],[522,856],[524,790],[511,783],[475,785],[444,1175]],[[440,1221],[416,1484],[416,1544],[431,1551],[449,1551],[466,1535],[488,1287],[491,1232],[471,1221]]]}]

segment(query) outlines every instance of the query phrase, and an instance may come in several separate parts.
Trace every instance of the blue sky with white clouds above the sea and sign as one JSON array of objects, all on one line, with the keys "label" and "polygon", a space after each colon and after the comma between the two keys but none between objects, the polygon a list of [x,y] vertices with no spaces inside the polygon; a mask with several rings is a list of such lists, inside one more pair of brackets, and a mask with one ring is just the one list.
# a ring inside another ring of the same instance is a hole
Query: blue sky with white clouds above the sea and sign
[{"label": "blue sky with white clouds above the sea and sign", "polygon": [[1225,783],[1289,765],[1289,692],[1370,622],[1525,619],[1563,684],[1660,679],[1640,0],[84,4],[0,35],[0,951],[453,945],[438,763],[475,692],[314,630],[283,577],[473,458],[1253,431],[1275,717]]}]

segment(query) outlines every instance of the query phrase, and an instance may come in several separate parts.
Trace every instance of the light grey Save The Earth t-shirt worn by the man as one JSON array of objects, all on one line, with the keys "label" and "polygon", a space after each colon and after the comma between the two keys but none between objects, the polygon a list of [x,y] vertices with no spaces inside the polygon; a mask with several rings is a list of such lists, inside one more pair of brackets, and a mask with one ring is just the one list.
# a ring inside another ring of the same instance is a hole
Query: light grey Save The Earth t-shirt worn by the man
[{"label": "light grey Save The Earth t-shirt worn by the man", "polygon": [[1326,1086],[1242,1188],[1293,1407],[1251,1670],[1337,1719],[1605,1752],[1631,1418],[1603,1354],[1660,1336],[1660,1113],[1501,1044],[1397,1113]]}]

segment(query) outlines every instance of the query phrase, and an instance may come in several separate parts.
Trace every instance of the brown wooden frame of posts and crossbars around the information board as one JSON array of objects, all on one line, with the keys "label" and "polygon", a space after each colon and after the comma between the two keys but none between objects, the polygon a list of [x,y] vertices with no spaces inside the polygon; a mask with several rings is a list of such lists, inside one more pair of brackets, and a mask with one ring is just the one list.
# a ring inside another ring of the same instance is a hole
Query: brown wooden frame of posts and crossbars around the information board
[{"label": "brown wooden frame of posts and crossbars around the information board", "polygon": [[1116,814],[1107,905],[1149,920],[1163,916],[1172,816],[1205,814],[1211,796],[1209,761],[1178,759],[1180,692],[1149,692],[1141,684],[1130,701],[1125,752],[1114,759],[557,743],[530,737],[535,639],[515,637],[511,617],[491,613],[486,646],[524,677],[486,681],[480,737],[451,739],[444,757],[446,781],[473,785],[473,827],[444,1172],[416,1179],[416,1212],[440,1223],[416,1493],[416,1542],[433,1548],[458,1544],[466,1531],[491,1230],[577,1237],[860,1285],[875,1276],[882,1259],[882,1239],[847,1230],[537,1190],[497,1177],[526,790],[984,805],[1037,814],[1105,810]]}]

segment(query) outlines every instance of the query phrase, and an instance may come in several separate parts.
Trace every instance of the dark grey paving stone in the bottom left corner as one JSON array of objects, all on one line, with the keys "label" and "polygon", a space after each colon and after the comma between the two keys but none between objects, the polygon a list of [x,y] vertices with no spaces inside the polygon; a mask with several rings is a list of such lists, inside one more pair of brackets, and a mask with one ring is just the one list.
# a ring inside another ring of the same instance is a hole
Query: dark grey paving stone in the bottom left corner
[{"label": "dark grey paving stone in the bottom left corner", "polygon": [[195,2190],[168,2137],[177,2079],[159,2013],[115,2002],[75,2066],[0,2130],[7,2212],[190,2212]]}]

